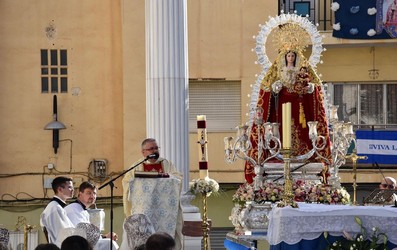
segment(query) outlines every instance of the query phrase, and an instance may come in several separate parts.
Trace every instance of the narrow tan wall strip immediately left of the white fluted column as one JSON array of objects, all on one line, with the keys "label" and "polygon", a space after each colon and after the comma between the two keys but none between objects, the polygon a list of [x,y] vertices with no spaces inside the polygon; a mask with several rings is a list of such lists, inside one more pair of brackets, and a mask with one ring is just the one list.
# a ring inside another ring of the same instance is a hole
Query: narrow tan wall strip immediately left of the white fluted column
[{"label": "narrow tan wall strip immediately left of the white fluted column", "polygon": [[[122,0],[123,155],[128,168],[141,157],[146,137],[145,1]],[[120,190],[119,190],[120,191]]]}]

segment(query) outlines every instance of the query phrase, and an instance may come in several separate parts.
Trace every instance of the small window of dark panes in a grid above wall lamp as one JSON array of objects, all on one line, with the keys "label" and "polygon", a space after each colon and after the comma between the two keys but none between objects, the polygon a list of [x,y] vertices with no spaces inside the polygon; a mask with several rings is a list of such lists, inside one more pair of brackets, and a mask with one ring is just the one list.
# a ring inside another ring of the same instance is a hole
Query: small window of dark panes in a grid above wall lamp
[{"label": "small window of dark panes in a grid above wall lamp", "polygon": [[41,93],[67,93],[67,50],[42,49],[40,58]]}]

